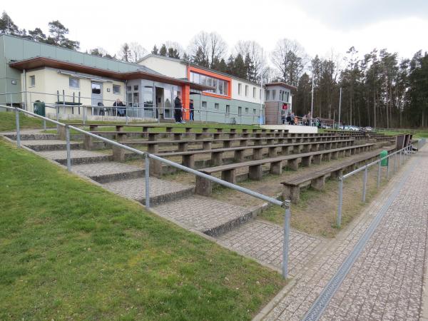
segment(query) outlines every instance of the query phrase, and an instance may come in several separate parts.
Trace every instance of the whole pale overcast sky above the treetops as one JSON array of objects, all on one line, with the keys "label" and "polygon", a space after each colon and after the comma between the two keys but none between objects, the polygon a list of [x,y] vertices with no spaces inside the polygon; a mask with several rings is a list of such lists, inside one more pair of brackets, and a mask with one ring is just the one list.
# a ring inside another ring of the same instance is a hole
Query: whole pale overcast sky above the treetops
[{"label": "whole pale overcast sky above the treetops", "polygon": [[190,0],[190,1],[3,1],[21,29],[58,19],[81,51],[103,47],[117,54],[124,42],[148,51],[163,41],[184,48],[198,31],[216,31],[230,49],[254,40],[272,51],[278,39],[296,39],[310,56],[360,54],[387,48],[411,58],[428,50],[428,0]]}]

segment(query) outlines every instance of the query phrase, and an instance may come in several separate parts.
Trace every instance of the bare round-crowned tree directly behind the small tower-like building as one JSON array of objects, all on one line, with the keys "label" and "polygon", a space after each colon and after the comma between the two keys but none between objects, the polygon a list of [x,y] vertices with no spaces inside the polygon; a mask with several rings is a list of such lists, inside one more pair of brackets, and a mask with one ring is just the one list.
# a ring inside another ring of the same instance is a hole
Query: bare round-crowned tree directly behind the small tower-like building
[{"label": "bare round-crowned tree directly behind the small tower-like building", "polygon": [[280,71],[282,81],[297,86],[308,61],[305,49],[295,40],[281,39],[272,51],[272,63]]}]

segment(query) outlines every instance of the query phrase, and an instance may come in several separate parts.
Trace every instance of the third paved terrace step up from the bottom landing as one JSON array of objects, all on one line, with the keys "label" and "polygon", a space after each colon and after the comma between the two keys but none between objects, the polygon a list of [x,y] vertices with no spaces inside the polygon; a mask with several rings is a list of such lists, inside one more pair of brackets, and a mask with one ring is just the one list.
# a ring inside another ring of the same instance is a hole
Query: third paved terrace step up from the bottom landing
[{"label": "third paved terrace step up from the bottom landing", "polygon": [[71,167],[71,170],[85,175],[98,183],[111,183],[116,180],[141,178],[145,173],[142,168],[137,166],[113,162],[75,165]]}]

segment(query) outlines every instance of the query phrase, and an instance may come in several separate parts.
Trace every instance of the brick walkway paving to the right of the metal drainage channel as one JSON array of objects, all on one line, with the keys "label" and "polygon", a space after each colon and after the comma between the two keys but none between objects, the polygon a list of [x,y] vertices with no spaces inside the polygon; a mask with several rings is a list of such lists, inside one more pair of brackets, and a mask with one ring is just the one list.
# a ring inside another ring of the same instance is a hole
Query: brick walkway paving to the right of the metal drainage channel
[{"label": "brick walkway paving to the right of the metal drainage channel", "polygon": [[322,320],[419,320],[428,232],[428,162],[412,170]]}]

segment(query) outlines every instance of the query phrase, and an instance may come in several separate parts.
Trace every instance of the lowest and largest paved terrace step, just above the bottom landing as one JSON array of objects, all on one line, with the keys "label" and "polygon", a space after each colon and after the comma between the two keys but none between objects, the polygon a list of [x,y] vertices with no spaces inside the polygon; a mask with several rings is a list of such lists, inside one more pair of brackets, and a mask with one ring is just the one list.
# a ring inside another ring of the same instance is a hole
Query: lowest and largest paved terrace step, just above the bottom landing
[{"label": "lowest and largest paved terrace step, just above the bottom landing", "polygon": [[153,210],[164,218],[175,220],[191,230],[207,235],[221,235],[253,218],[253,211],[212,198],[192,195],[173,203],[157,205]]}]

